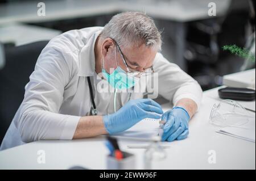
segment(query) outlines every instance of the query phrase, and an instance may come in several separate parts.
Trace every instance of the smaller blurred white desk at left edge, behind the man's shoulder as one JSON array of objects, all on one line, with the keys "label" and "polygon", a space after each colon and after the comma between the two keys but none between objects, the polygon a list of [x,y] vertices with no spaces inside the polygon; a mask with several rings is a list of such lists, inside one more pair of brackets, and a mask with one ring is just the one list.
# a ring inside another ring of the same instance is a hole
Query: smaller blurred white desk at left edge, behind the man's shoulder
[{"label": "smaller blurred white desk at left edge, behind the man's shoulder", "polygon": [[0,41],[2,43],[15,43],[16,46],[19,46],[35,41],[51,40],[60,33],[61,31],[58,30],[31,25],[2,24],[0,26]]}]

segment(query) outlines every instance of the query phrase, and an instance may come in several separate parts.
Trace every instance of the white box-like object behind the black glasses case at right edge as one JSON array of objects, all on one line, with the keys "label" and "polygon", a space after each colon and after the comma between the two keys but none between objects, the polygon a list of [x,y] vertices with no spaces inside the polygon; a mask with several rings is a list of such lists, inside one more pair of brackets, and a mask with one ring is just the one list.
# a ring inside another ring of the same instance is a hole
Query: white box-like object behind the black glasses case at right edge
[{"label": "white box-like object behind the black glasses case at right edge", "polygon": [[251,87],[255,89],[255,69],[224,75],[223,85],[229,87]]}]

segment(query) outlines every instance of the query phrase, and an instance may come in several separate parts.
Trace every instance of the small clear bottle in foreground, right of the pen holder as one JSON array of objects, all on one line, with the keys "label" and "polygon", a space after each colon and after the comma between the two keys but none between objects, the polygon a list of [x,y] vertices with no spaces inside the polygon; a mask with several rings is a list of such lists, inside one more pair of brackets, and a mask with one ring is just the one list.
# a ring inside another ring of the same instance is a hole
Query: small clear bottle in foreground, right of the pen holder
[{"label": "small clear bottle in foreground, right of the pen holder", "polygon": [[167,157],[166,152],[160,145],[161,137],[152,137],[152,142],[144,154],[144,169],[157,170],[161,169],[163,160]]}]

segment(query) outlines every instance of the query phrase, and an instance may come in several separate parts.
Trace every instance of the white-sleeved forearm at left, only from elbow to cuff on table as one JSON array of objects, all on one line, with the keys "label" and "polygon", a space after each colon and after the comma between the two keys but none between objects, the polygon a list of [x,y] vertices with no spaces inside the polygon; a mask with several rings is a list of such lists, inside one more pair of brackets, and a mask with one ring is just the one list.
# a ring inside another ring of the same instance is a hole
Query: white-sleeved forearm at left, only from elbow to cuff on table
[{"label": "white-sleeved forearm at left, only from elbow to cuff on table", "polygon": [[71,140],[80,119],[80,116],[39,110],[32,103],[22,103],[17,114],[16,124],[23,142]]}]

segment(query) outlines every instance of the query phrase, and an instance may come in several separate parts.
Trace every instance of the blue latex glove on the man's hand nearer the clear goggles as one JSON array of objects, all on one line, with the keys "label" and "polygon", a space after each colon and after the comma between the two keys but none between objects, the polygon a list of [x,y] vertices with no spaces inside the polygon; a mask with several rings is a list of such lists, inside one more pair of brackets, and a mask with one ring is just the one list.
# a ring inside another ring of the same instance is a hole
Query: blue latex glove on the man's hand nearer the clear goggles
[{"label": "blue latex glove on the man's hand nearer the clear goggles", "polygon": [[163,127],[162,141],[183,140],[188,136],[188,112],[182,107],[174,107],[162,115],[166,120]]}]

